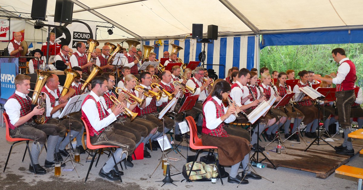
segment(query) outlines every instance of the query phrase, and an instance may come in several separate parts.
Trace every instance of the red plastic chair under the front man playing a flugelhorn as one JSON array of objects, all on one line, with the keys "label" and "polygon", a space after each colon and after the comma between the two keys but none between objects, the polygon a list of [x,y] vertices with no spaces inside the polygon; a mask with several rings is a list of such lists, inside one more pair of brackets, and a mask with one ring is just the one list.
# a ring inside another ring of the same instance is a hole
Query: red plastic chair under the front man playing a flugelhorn
[{"label": "red plastic chair under the front man playing a flugelhorn", "polygon": [[[89,135],[89,130],[88,130],[88,127],[87,127],[87,123],[85,122],[85,120],[83,118],[81,118],[83,123],[85,124],[85,129],[86,129],[86,134],[87,134],[87,148],[88,149],[91,149],[91,150],[96,150],[92,156],[92,160],[91,160],[91,164],[90,164],[90,167],[88,168],[88,172],[87,172],[87,176],[86,176],[86,179],[85,179],[85,183],[87,182],[87,178],[88,178],[88,174],[90,173],[90,170],[92,168],[92,165],[93,165],[93,162],[94,162],[94,158],[95,156],[97,155],[97,152],[101,153],[102,149],[103,148],[108,148],[111,155],[112,155],[112,158],[114,159],[114,162],[115,162],[115,166],[116,166],[116,169],[118,171],[118,167],[117,167],[117,163],[116,163],[116,160],[115,160],[115,157],[114,157],[114,154],[113,152],[111,151],[111,148],[115,147],[115,148],[119,148],[119,147],[116,147],[116,146],[110,146],[110,145],[92,145],[91,144],[91,140],[90,140],[90,135]],[[99,158],[99,156],[98,156]],[[98,161],[98,160],[97,160]],[[120,173],[118,173],[118,176],[120,177],[120,181],[122,182],[122,179],[121,179],[121,176],[120,176]]]}]

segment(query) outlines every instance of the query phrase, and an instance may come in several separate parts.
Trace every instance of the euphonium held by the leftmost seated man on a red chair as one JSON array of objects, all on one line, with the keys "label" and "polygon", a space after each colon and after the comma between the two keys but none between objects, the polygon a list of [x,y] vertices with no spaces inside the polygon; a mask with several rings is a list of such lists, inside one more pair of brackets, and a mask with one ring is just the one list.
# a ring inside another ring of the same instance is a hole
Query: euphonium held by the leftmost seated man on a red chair
[{"label": "euphonium held by the leftmost seated man on a red chair", "polygon": [[[46,81],[52,77],[52,73],[42,71],[39,69],[35,69],[35,72],[37,73],[37,82],[35,84],[34,90],[30,90],[33,92],[32,96],[32,108],[39,105],[39,109],[44,107],[46,109],[45,100],[39,95],[41,94],[41,90],[43,86],[45,85]],[[34,120],[37,124],[44,124],[45,123],[45,117],[46,117],[46,110],[42,115],[37,115]]]}]

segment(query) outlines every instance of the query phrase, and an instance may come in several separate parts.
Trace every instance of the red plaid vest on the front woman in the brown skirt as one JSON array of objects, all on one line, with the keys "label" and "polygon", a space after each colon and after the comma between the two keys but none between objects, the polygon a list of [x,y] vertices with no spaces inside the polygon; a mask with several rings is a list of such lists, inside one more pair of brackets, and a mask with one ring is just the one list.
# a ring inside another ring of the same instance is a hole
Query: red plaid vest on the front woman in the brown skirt
[{"label": "red plaid vest on the front woman in the brown skirt", "polygon": [[[218,102],[216,100],[214,100],[213,98],[211,98],[211,100],[208,100],[207,102],[212,101],[213,104],[216,106],[216,110],[217,110],[217,118],[220,118],[224,115],[224,109],[223,109],[223,104],[218,104]],[[207,103],[205,102],[205,103]],[[205,105],[205,104],[204,104]],[[212,136],[218,136],[218,137],[228,137],[229,135],[227,134],[227,131],[224,130],[223,126],[224,126],[224,122],[222,122],[217,128],[210,130],[209,128],[207,128],[207,122],[205,121],[205,113],[204,113],[204,105],[203,105],[203,129],[202,132],[204,134],[208,134],[208,135],[212,135]]]}]

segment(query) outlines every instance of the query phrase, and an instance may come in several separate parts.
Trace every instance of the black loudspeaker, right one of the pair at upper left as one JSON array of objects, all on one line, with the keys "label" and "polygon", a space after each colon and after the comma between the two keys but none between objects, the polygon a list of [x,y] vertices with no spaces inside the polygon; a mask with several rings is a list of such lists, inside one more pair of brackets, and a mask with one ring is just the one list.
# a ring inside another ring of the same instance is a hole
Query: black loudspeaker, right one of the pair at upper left
[{"label": "black loudspeaker, right one of the pair at upper left", "polygon": [[73,2],[68,0],[57,0],[54,12],[54,22],[72,23]]}]

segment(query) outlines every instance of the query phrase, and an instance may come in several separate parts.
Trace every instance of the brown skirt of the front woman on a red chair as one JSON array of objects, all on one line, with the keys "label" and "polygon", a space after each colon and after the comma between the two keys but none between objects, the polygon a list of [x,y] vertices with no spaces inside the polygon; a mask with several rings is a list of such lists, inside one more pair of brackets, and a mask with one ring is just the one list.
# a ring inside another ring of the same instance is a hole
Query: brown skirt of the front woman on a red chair
[{"label": "brown skirt of the front woman on a red chair", "polygon": [[201,139],[204,146],[218,147],[219,164],[224,166],[241,162],[251,150],[248,140],[239,136],[218,137],[202,133]]}]

